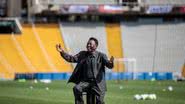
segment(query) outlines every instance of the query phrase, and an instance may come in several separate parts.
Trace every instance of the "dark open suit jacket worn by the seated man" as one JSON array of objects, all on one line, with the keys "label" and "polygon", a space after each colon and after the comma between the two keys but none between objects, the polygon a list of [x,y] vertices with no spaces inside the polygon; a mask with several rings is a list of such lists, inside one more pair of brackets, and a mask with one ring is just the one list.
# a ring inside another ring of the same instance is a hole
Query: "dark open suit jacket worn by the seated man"
[{"label": "dark open suit jacket worn by the seated man", "polygon": [[[82,81],[82,65],[84,64],[84,60],[88,57],[87,51],[81,51],[75,56],[69,55],[65,52],[60,53],[61,56],[68,62],[77,63],[70,79],[68,82],[73,82],[78,84],[80,81]],[[95,54],[95,65],[94,65],[94,78],[95,81],[101,91],[106,91],[106,82],[105,82],[105,66],[108,68],[113,68],[114,64],[110,63],[107,56],[104,53],[96,51]]]}]

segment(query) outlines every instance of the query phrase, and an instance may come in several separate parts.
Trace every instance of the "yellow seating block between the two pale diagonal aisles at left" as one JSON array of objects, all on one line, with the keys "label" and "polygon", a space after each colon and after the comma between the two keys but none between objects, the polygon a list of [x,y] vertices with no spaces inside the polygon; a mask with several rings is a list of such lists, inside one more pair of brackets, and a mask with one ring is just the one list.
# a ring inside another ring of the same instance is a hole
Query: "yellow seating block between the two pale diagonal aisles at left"
[{"label": "yellow seating block between the two pale diagonal aisles at left", "polygon": [[20,37],[16,37],[16,39],[18,40],[20,47],[22,47],[31,64],[36,68],[37,72],[51,71],[47,60],[45,59],[38,45],[38,41],[34,36],[32,25],[23,25],[22,35]]}]

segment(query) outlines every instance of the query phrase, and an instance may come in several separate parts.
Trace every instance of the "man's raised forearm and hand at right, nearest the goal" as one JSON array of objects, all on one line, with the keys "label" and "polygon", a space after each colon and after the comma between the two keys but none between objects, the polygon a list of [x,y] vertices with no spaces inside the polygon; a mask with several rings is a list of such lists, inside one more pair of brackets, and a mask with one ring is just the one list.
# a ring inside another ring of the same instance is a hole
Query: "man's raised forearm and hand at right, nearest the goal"
[{"label": "man's raised forearm and hand at right, nearest the goal", "polygon": [[111,56],[110,60],[108,60],[107,55],[103,54],[103,63],[106,67],[112,69],[114,67],[114,57]]}]

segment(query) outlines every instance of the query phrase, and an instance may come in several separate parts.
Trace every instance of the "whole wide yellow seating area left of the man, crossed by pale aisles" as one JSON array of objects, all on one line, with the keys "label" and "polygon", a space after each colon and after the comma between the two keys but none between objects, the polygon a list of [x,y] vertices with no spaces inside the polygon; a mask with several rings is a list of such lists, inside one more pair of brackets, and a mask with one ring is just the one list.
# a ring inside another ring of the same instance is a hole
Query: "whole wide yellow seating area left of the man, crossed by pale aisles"
[{"label": "whole wide yellow seating area left of the man, crossed by pale aisles", "polygon": [[[72,71],[72,66],[61,59],[55,49],[56,43],[65,47],[57,24],[22,26],[21,35],[0,35],[2,76],[9,73]],[[12,78],[12,75],[8,77]]]}]

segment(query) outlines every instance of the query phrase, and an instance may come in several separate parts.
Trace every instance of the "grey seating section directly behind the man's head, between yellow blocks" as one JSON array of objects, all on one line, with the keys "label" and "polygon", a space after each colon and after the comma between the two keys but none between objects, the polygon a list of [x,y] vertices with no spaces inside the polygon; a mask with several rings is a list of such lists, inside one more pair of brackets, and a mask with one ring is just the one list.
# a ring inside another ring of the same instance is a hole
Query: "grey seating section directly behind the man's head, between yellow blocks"
[{"label": "grey seating section directly behind the man's head, between yellow blocks", "polygon": [[77,54],[79,51],[86,50],[86,44],[89,37],[96,37],[99,40],[98,50],[108,53],[104,23],[63,22],[61,23],[61,29],[64,42],[71,54]]}]

